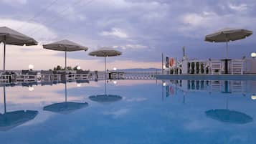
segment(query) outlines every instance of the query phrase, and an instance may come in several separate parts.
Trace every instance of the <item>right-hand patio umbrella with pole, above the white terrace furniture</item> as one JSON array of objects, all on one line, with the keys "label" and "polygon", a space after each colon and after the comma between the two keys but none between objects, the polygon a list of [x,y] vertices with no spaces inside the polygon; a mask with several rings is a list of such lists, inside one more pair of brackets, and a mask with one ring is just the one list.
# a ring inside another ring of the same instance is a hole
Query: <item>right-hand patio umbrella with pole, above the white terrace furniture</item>
[{"label": "right-hand patio umbrella with pole, above the white terrace furniture", "polygon": [[228,57],[228,42],[245,39],[252,35],[252,31],[247,29],[224,28],[205,37],[206,42],[226,42],[226,59]]}]

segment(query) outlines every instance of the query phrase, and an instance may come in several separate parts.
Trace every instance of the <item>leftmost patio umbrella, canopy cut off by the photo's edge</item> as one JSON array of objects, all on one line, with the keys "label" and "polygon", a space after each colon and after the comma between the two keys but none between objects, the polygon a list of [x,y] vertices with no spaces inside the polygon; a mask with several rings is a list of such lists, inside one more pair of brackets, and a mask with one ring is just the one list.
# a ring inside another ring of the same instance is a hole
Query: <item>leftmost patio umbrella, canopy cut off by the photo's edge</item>
[{"label": "leftmost patio umbrella, canopy cut off by the photo's edge", "polygon": [[0,42],[4,43],[4,73],[5,73],[5,53],[6,44],[18,45],[18,46],[31,46],[37,45],[37,41],[31,37],[28,37],[20,32],[16,32],[9,27],[0,27]]}]

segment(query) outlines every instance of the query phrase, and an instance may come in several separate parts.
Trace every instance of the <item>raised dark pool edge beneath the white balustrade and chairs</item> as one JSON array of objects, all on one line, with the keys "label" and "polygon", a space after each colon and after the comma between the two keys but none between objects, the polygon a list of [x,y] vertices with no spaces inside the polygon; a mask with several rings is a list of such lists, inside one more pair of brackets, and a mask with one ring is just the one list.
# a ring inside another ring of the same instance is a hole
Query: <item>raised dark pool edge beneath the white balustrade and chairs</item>
[{"label": "raised dark pool edge beneath the white balustrade and chairs", "polygon": [[156,80],[256,80],[256,75],[156,75]]}]

